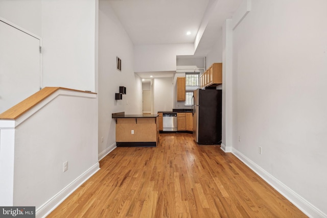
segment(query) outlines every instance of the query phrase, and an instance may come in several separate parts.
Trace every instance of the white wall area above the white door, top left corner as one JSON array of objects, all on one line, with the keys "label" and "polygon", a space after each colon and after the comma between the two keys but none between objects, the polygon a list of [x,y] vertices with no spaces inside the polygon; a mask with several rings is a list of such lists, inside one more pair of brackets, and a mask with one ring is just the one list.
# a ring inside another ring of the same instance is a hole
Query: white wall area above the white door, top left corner
[{"label": "white wall area above the white door, top left corner", "polygon": [[0,17],[38,36],[42,34],[41,14],[41,0],[0,1]]}]

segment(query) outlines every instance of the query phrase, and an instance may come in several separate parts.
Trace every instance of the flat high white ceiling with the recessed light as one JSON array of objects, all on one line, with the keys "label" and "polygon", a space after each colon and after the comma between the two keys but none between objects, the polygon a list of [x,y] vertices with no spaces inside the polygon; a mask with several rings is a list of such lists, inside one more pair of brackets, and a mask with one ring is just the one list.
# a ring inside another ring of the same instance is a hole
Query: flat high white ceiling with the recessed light
[{"label": "flat high white ceiling with the recessed light", "polygon": [[134,45],[140,45],[193,43],[209,0],[109,2]]}]

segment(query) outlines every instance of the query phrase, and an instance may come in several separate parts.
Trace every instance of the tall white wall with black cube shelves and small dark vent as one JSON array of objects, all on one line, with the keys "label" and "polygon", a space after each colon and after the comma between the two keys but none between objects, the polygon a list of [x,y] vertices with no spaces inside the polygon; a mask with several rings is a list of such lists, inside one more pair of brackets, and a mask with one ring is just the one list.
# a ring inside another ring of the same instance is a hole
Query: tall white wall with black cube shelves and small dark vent
[{"label": "tall white wall with black cube shelves and small dark vent", "polygon": [[[99,1],[99,158],[115,148],[111,114],[142,114],[142,81],[134,74],[133,55],[133,44],[110,4]],[[122,71],[116,69],[116,56],[122,59]],[[127,94],[114,100],[119,86],[125,86]]]}]

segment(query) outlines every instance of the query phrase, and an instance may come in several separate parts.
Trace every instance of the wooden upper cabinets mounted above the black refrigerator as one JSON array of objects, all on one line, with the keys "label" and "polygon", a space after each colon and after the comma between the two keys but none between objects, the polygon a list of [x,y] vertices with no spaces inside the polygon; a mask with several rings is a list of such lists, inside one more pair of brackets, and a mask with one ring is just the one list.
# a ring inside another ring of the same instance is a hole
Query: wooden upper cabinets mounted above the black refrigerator
[{"label": "wooden upper cabinets mounted above the black refrigerator", "polygon": [[222,63],[213,63],[200,77],[201,88],[218,86],[223,83]]}]

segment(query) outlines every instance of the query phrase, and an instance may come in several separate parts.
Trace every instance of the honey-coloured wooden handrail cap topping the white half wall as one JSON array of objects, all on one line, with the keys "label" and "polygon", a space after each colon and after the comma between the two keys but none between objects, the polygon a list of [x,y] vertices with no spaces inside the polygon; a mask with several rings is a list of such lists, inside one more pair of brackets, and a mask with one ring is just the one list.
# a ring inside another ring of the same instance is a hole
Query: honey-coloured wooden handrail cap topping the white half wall
[{"label": "honey-coloured wooden handrail cap topping the white half wall", "polygon": [[21,115],[32,109],[38,103],[48,98],[48,96],[50,96],[52,93],[56,92],[59,89],[96,94],[95,92],[81,91],[81,90],[69,89],[63,87],[44,87],[40,91],[29,96],[29,98],[25,99],[24,101],[16,104],[15,106],[9,108],[8,110],[0,114],[0,119],[17,119],[18,117],[20,117]]}]

